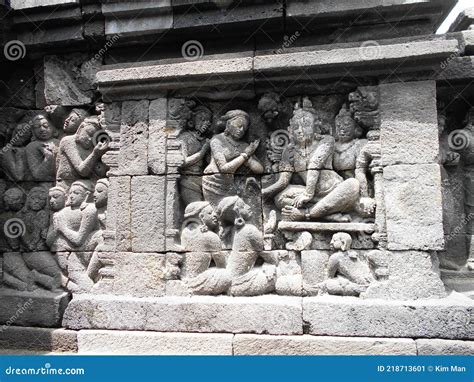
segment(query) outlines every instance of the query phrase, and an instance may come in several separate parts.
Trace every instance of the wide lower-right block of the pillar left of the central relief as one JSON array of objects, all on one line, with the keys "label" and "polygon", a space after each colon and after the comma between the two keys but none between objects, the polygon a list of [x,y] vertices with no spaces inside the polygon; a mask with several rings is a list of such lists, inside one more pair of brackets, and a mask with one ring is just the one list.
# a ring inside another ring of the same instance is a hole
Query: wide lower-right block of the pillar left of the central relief
[{"label": "wide lower-right block of the pillar left of the central relief", "polygon": [[132,249],[134,252],[165,250],[164,176],[132,178]]}]

